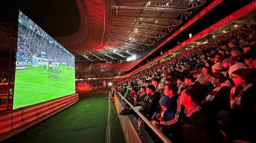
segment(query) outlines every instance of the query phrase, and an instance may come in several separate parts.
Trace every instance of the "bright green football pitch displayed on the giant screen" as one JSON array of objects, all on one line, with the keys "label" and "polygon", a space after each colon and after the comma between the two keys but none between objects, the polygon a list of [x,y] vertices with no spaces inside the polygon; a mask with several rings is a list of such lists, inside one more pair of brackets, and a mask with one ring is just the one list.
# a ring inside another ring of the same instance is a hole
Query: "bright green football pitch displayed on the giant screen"
[{"label": "bright green football pitch displayed on the giant screen", "polygon": [[64,64],[55,66],[55,72],[44,65],[16,71],[13,109],[75,93],[74,76],[74,69]]}]

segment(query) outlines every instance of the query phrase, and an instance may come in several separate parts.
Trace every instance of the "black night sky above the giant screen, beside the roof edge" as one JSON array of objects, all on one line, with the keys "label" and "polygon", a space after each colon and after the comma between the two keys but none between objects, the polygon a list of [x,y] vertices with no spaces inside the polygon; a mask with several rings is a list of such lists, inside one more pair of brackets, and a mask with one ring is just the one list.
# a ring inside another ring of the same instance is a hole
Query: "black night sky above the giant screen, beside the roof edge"
[{"label": "black night sky above the giant screen, beside the roof edge", "polygon": [[52,37],[75,34],[80,26],[75,0],[7,0],[0,5],[0,22],[16,21],[21,10]]}]

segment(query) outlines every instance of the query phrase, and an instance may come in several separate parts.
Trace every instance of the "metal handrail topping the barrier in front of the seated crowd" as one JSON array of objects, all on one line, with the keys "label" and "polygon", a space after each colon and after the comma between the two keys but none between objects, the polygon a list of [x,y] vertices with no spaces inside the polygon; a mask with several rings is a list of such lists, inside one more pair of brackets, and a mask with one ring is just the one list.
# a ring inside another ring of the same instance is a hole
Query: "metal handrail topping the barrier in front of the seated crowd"
[{"label": "metal handrail topping the barrier in front of the seated crowd", "polygon": [[[114,87],[112,87],[114,89]],[[114,89],[116,91],[116,89]],[[140,118],[149,126],[149,128],[151,128],[154,133],[156,133],[156,135],[164,142],[164,143],[172,143],[163,133],[161,133],[152,123],[150,123],[149,120],[147,120],[147,118],[145,118],[140,111],[138,111],[136,108],[134,108],[134,106],[132,106],[132,104],[126,100],[119,92],[116,92],[119,94],[119,96],[125,100],[125,102],[131,106],[131,108],[138,114],[138,116],[140,116]]]}]

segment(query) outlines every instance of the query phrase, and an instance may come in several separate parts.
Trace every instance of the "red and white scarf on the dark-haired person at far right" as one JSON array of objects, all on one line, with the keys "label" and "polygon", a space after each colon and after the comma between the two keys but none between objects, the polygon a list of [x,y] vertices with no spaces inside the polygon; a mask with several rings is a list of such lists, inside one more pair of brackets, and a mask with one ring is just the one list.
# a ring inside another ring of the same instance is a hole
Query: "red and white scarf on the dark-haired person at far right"
[{"label": "red and white scarf on the dark-haired person at far right", "polygon": [[233,99],[233,96],[235,94],[235,90],[237,87],[239,87],[241,85],[235,85],[231,91],[230,91],[230,107],[231,109],[239,109],[241,108],[241,98],[242,98],[242,95],[244,94],[244,92],[251,86],[253,86],[253,84],[248,84],[246,87],[244,87],[243,90],[240,91],[240,93],[235,96],[235,99]]}]

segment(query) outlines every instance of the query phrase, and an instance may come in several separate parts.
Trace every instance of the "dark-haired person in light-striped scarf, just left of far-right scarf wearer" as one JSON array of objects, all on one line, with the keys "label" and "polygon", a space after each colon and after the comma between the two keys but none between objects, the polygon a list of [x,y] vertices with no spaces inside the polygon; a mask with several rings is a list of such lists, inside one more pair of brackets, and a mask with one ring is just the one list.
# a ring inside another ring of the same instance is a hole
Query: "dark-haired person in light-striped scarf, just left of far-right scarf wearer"
[{"label": "dark-haired person in light-striped scarf, just left of far-right scarf wearer", "polygon": [[231,87],[224,83],[225,76],[220,72],[214,72],[210,77],[213,91],[202,101],[202,107],[208,107],[212,113],[219,113],[221,110],[229,110],[229,95]]}]

